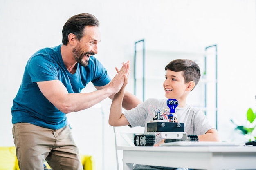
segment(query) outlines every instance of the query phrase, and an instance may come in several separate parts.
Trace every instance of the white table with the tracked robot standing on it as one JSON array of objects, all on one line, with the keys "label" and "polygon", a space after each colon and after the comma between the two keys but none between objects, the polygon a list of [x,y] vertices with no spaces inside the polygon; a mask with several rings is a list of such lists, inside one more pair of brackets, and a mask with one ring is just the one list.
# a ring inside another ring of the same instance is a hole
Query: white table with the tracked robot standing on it
[{"label": "white table with the tracked robot standing on it", "polygon": [[256,146],[118,146],[124,170],[132,164],[203,170],[256,169]]}]

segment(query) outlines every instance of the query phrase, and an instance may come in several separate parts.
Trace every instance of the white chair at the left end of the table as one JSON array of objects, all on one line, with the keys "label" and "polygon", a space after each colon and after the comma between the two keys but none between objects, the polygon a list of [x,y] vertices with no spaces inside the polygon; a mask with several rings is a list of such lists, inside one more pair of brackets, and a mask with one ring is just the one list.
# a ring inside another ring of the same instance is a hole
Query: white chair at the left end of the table
[{"label": "white chair at the left end of the table", "polygon": [[117,170],[123,170],[123,150],[117,150],[117,146],[135,146],[133,139],[135,134],[143,134],[144,127],[118,126],[113,127],[115,133],[115,149],[117,159]]}]

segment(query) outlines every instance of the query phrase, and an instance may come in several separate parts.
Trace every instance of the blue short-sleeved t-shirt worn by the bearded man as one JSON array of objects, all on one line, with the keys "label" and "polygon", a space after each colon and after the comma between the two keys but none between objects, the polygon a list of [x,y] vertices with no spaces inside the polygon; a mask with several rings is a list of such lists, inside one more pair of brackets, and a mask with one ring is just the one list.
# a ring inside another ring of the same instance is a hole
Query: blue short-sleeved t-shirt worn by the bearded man
[{"label": "blue short-sleeved t-shirt worn by the bearded man", "polygon": [[32,55],[25,67],[22,83],[11,108],[12,123],[26,122],[50,129],[67,125],[66,114],[58,110],[41,93],[36,82],[60,80],[68,93],[80,93],[86,84],[104,86],[110,77],[103,65],[90,56],[89,65],[78,64],[76,73],[71,74],[61,57],[61,45],[40,49]]}]

